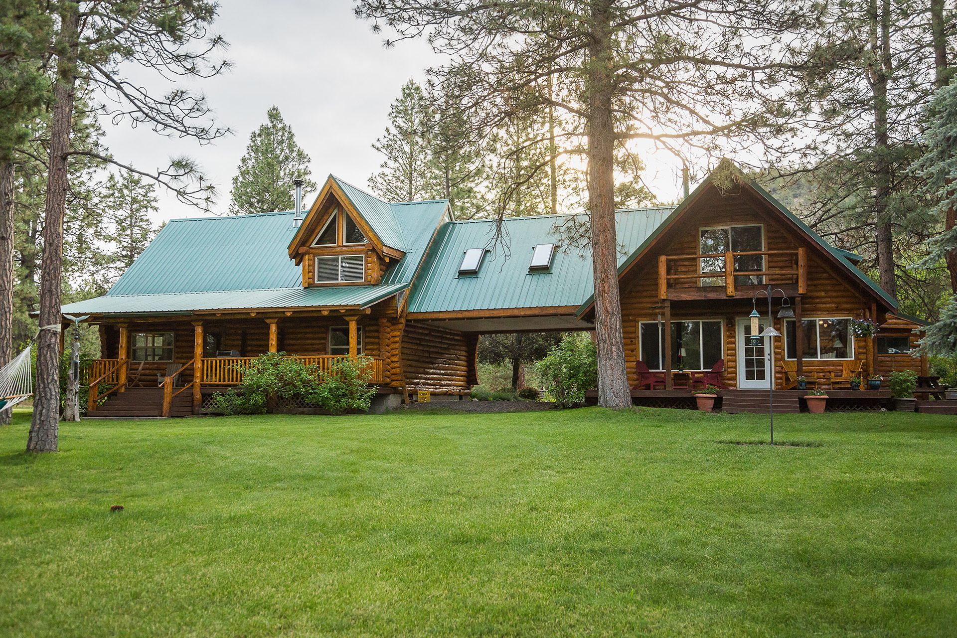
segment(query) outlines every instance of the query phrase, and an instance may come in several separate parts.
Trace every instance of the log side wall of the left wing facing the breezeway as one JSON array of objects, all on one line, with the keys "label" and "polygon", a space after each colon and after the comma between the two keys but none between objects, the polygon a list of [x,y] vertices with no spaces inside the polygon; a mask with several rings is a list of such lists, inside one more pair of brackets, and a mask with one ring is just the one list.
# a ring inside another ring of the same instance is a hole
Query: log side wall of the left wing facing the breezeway
[{"label": "log side wall of the left wing facing the breezeway", "polygon": [[[402,334],[402,370],[410,390],[453,394],[474,378],[465,335],[409,321]],[[471,368],[471,369],[470,369]]]}]

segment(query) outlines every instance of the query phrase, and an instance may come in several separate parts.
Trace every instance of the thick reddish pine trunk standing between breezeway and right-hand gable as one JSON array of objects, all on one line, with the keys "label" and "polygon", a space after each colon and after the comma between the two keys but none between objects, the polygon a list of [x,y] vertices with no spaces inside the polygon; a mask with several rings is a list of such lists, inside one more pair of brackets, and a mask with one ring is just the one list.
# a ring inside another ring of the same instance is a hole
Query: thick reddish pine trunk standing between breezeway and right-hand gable
[{"label": "thick reddish pine trunk standing between breezeway and right-hand gable", "polygon": [[591,3],[589,47],[589,204],[595,334],[598,350],[598,405],[630,407],[618,292],[614,226],[614,121],[612,114],[611,0]]}]

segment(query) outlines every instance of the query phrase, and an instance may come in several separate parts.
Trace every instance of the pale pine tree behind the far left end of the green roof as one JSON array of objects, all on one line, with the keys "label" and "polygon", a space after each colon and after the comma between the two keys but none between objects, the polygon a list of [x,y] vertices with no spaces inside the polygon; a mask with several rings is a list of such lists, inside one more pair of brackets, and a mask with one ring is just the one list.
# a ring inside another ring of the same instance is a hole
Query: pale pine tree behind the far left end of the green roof
[{"label": "pale pine tree behind the far left end of the green roof", "polygon": [[149,218],[150,213],[159,212],[156,187],[140,175],[110,175],[100,206],[108,224],[103,238],[111,244],[110,278],[115,279],[133,265],[133,260],[156,235],[157,229]]}]

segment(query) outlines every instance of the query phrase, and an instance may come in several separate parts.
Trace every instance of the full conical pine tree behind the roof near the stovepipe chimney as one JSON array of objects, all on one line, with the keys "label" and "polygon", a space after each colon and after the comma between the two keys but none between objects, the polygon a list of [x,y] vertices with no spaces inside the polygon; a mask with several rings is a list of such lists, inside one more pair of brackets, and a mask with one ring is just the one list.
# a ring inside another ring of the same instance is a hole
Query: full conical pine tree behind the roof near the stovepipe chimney
[{"label": "full conical pine tree behind the roof near the stovepipe chimney", "polygon": [[316,189],[316,183],[310,179],[310,161],[296,143],[292,127],[282,120],[278,107],[270,107],[266,123],[249,136],[246,153],[239,160],[230,212],[235,215],[292,210],[295,180],[302,180],[304,192]]}]

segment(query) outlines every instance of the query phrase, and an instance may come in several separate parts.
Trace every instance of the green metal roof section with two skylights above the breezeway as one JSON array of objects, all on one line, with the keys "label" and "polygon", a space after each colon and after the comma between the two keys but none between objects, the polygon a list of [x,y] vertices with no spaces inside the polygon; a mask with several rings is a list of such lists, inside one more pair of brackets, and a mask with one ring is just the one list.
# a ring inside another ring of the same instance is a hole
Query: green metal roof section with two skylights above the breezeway
[{"label": "green metal roof section with two skylights above the breezeway", "polygon": [[[624,259],[671,211],[670,208],[629,209],[615,213],[621,259]],[[536,244],[566,243],[562,226],[574,215],[507,217],[502,220],[502,244],[485,254],[478,275],[458,276],[462,255],[470,248],[488,247],[494,220],[449,222],[435,238],[421,274],[412,284],[409,312],[444,312],[577,306],[589,297],[593,279],[590,249],[557,252],[547,272],[530,273]],[[583,222],[584,216],[582,216]]]}]

